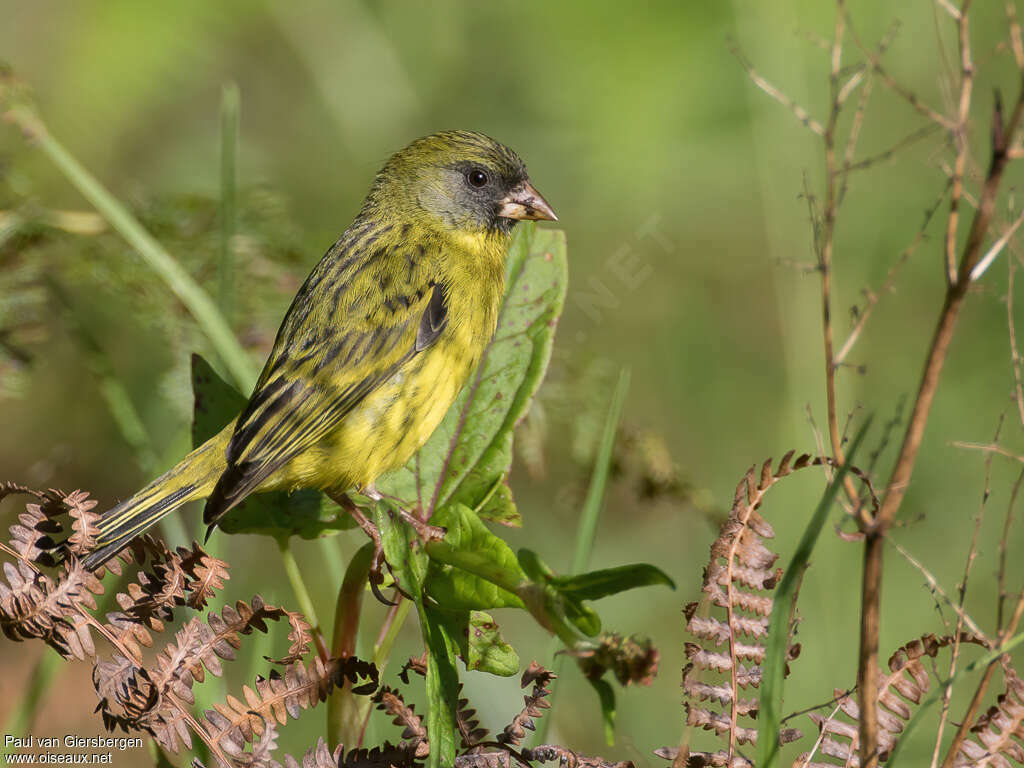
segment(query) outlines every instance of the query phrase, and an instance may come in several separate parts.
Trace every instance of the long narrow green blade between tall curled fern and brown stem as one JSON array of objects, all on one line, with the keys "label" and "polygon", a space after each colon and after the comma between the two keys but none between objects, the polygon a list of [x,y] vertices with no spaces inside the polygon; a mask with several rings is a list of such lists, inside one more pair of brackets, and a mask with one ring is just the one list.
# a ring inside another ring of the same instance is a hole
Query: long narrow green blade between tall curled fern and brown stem
[{"label": "long narrow green blade between tall curled fern and brown stem", "polygon": [[772,602],[770,622],[768,624],[768,639],[765,643],[765,663],[762,666],[761,679],[761,712],[759,714],[760,725],[758,727],[758,760],[757,765],[770,768],[778,761],[778,728],[779,717],[782,708],[782,686],[785,682],[785,656],[790,644],[790,614],[793,609],[793,601],[796,599],[797,588],[803,578],[804,569],[817,544],[818,535],[824,527],[828,519],[828,512],[831,510],[836,495],[843,486],[843,479],[846,477],[850,463],[857,455],[861,440],[867,434],[871,426],[871,419],[868,418],[864,425],[857,432],[850,444],[846,462],[840,467],[833,481],[825,488],[821,501],[818,502],[814,514],[811,515],[804,535],[797,545],[797,551],[786,565],[782,573],[782,580],[775,590],[775,599]]}]

